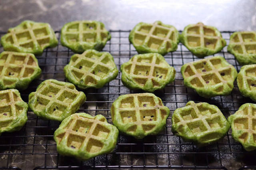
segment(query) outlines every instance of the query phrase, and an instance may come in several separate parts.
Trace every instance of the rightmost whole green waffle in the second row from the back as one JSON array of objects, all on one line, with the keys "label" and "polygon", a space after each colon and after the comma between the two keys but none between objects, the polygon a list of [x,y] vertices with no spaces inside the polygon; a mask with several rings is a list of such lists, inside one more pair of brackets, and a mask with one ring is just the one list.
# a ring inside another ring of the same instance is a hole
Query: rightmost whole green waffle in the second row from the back
[{"label": "rightmost whole green waffle in the second row from the back", "polygon": [[236,69],[221,56],[186,63],[181,73],[184,84],[206,98],[229,95],[237,76]]}]

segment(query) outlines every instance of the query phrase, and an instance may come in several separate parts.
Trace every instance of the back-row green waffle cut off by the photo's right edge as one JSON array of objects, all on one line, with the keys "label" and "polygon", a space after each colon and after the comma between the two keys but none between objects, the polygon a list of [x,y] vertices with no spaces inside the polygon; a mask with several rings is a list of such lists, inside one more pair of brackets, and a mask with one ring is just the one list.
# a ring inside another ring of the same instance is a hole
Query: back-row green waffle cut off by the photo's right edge
[{"label": "back-row green waffle cut off by the photo's right edge", "polygon": [[228,52],[234,54],[240,65],[256,64],[256,32],[234,32],[230,36]]}]

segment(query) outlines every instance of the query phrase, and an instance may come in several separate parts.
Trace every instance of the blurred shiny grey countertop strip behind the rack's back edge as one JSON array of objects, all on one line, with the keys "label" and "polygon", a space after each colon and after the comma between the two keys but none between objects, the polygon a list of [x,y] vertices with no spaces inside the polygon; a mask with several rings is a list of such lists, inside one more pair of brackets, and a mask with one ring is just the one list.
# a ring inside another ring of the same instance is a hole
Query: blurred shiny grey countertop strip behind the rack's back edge
[{"label": "blurred shiny grey countertop strip behind the rack's back edge", "polygon": [[219,30],[256,30],[255,0],[1,0],[0,31],[23,20],[48,22],[54,30],[74,20],[98,20],[111,30],[161,20],[178,30],[203,22]]}]

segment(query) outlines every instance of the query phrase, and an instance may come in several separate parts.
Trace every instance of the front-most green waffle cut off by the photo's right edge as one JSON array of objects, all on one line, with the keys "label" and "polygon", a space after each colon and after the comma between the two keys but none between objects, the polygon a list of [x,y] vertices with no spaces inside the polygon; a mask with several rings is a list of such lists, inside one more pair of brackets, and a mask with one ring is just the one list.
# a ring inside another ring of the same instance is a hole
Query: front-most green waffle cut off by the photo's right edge
[{"label": "front-most green waffle cut off by the photo's right edge", "polygon": [[228,117],[233,138],[240,142],[245,150],[256,149],[256,104],[242,105],[234,115]]}]

